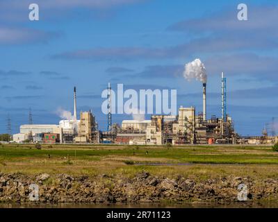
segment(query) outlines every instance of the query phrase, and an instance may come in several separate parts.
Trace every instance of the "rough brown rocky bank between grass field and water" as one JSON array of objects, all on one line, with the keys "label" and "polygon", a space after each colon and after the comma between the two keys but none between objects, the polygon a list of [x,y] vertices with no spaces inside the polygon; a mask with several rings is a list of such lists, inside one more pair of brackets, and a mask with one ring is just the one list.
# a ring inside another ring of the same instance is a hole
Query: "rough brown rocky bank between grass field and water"
[{"label": "rough brown rocky bank between grass field and water", "polygon": [[258,180],[229,176],[200,181],[194,178],[157,177],[146,171],[138,173],[134,178],[122,175],[74,177],[66,174],[28,176],[0,173],[0,201],[31,201],[32,184],[38,185],[36,201],[40,203],[237,201],[240,184],[247,188],[247,200],[278,197],[278,178]]}]

